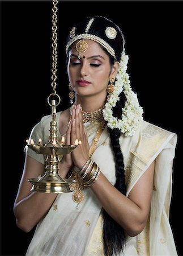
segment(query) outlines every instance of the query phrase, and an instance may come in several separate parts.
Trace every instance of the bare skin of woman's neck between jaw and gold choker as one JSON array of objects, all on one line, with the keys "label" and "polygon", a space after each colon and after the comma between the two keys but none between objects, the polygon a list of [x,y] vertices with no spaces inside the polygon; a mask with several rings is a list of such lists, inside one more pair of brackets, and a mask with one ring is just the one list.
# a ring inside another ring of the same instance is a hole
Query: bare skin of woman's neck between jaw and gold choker
[{"label": "bare skin of woman's neck between jaw and gold choker", "polygon": [[82,97],[76,95],[76,104],[82,106],[84,112],[93,112],[97,109],[101,109],[105,105],[107,95],[102,97],[92,96],[92,97]]}]

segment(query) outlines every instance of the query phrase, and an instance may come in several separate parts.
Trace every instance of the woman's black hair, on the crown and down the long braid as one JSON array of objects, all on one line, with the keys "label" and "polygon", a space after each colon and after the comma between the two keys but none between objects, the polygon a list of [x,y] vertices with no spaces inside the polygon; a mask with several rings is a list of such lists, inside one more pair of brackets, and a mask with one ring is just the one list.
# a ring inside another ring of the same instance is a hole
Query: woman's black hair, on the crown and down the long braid
[{"label": "woman's black hair, on the crown and down the long braid", "polygon": [[[110,47],[114,49],[116,59],[118,61],[121,60],[121,53],[124,50],[124,35],[120,28],[103,16],[89,16],[83,19],[81,22],[77,23],[75,27],[75,36],[84,34],[86,30],[86,26],[91,18],[95,18],[90,29],[88,30],[88,34],[96,35],[99,38],[105,40],[109,44]],[[107,27],[114,27],[117,31],[116,38],[109,39],[105,34],[105,30]],[[71,40],[70,35],[67,37],[67,42]],[[109,55],[110,65],[114,64],[114,57],[110,55],[110,53],[105,49],[105,47],[101,46],[104,51]],[[120,94],[120,101],[117,101],[116,106],[113,108],[114,117],[120,118],[122,115],[122,108],[124,108],[124,104],[126,101],[125,94],[122,92]],[[118,129],[110,129],[108,127],[108,132],[110,134],[110,142],[112,145],[112,149],[114,152],[114,160],[116,163],[116,183],[114,187],[118,189],[124,195],[126,194],[126,186],[125,186],[125,171],[124,171],[124,160],[123,155],[120,148],[119,138],[121,135],[121,131]],[[126,233],[124,229],[113,220],[112,217],[105,211],[102,210],[104,217],[104,225],[103,225],[103,243],[104,243],[104,253],[107,256],[120,253],[123,250],[124,242],[126,238]]]}]

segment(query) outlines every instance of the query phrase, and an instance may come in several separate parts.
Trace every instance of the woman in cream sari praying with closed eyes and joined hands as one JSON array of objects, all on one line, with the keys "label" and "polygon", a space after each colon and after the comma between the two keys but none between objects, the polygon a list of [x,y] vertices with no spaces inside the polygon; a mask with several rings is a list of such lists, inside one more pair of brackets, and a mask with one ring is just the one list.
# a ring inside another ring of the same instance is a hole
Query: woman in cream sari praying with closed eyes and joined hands
[{"label": "woman in cream sari praying with closed eyes and joined hands", "polygon": [[[26,255],[177,255],[168,222],[177,136],[143,121],[126,73],[124,36],[111,20],[76,24],[66,44],[70,109],[57,113],[58,133],[79,144],[59,162],[73,192],[30,192],[26,180],[45,172],[26,148],[14,213],[36,232]],[[48,142],[51,116],[30,135]]]}]

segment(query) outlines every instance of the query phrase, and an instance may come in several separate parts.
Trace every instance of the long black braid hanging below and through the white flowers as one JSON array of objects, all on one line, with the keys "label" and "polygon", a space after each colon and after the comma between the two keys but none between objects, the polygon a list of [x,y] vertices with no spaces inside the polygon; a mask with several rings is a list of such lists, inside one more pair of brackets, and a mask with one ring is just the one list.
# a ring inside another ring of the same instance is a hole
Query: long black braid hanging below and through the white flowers
[{"label": "long black braid hanging below and through the white flowers", "polygon": [[[126,101],[125,94],[122,92],[120,94],[120,101],[117,101],[116,106],[113,108],[114,117],[120,118],[122,115],[122,108],[124,107]],[[111,146],[114,152],[114,161],[116,163],[116,183],[114,187],[118,189],[124,195],[126,194],[125,185],[125,171],[124,171],[124,160],[121,152],[119,138],[121,131],[118,129],[110,129],[108,127],[110,134]],[[103,209],[103,243],[104,243],[104,253],[107,256],[120,253],[123,251],[126,233],[124,229],[113,220],[112,217]]]}]

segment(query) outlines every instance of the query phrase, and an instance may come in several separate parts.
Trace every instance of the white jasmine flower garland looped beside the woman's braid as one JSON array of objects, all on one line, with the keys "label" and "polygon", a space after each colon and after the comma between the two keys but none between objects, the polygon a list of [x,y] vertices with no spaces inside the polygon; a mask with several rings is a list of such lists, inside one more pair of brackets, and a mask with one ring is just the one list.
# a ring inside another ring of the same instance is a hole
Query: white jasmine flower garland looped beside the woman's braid
[{"label": "white jasmine flower garland looped beside the woman's braid", "polygon": [[[131,90],[129,75],[126,73],[128,59],[129,57],[125,53],[122,53],[120,67],[114,84],[114,92],[105,104],[103,115],[110,129],[118,128],[125,136],[132,136],[143,120],[143,109],[139,105],[137,94]],[[126,102],[122,109],[121,119],[118,119],[117,117],[113,117],[112,109],[116,106],[116,102],[120,100],[119,95],[122,90],[125,93]]]}]

